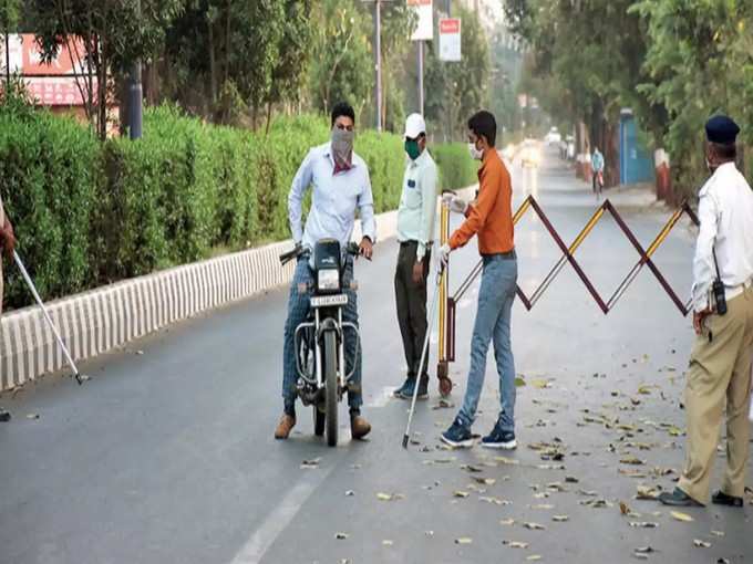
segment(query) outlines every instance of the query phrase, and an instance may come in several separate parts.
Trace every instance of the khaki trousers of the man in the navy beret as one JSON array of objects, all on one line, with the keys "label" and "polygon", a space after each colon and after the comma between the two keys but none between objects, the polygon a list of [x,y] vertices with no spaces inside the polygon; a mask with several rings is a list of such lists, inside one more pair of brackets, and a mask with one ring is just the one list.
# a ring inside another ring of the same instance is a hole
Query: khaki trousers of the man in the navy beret
[{"label": "khaki trousers of the man in the navy beret", "polygon": [[[711,335],[711,341],[710,341]],[[728,302],[725,315],[710,315],[690,355],[685,385],[688,440],[679,488],[709,502],[722,411],[726,405],[726,472],[722,491],[743,497],[749,452],[747,409],[753,353],[753,289]]]}]

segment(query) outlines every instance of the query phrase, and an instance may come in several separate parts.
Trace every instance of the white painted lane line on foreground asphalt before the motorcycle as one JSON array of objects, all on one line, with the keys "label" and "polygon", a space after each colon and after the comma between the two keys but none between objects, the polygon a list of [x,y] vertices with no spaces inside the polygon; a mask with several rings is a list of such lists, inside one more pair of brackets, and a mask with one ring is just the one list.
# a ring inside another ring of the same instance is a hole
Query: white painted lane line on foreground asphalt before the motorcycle
[{"label": "white painted lane line on foreground asphalt before the motorcycle", "polygon": [[277,509],[267,515],[259,528],[251,533],[246,544],[240,549],[231,564],[258,564],[277,537],[295,519],[303,503],[322,484],[327,477],[334,470],[334,464],[329,469],[318,469],[308,473],[308,479],[297,483]]}]

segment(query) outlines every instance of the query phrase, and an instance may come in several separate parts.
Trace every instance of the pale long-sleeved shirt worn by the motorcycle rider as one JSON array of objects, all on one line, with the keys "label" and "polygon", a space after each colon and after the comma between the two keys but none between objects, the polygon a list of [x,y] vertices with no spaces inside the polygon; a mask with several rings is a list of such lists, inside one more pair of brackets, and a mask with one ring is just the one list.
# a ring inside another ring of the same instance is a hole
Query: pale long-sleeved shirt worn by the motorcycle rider
[{"label": "pale long-sleeved shirt worn by the motorcycle rider", "polygon": [[[288,219],[293,240],[313,248],[320,239],[333,238],[340,241],[344,252],[353,233],[358,210],[363,236],[376,242],[374,199],[365,161],[353,153],[351,169],[337,175],[333,173],[330,143],[309,150],[292,179],[288,196]],[[303,196],[309,186],[313,187],[313,197],[303,229]]]}]

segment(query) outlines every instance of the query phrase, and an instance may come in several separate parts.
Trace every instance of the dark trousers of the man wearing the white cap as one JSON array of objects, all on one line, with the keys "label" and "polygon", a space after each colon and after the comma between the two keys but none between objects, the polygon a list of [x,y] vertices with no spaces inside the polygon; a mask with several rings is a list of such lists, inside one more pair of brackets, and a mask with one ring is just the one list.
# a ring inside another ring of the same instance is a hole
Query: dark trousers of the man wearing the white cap
[{"label": "dark trousers of the man wearing the white cap", "polygon": [[408,377],[415,378],[421,373],[422,378],[429,379],[429,351],[422,367],[421,353],[426,337],[426,279],[431,253],[424,254],[423,278],[420,283],[413,282],[413,265],[415,264],[419,243],[408,241],[400,243],[398,268],[395,269],[395,303],[398,306],[398,323],[403,337]]}]

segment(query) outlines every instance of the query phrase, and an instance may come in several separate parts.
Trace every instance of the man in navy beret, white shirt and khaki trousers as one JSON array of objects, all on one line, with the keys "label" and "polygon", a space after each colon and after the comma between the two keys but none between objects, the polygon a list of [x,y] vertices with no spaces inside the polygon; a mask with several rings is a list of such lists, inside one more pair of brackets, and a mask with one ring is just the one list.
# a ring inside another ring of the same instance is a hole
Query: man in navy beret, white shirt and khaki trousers
[{"label": "man in navy beret, white shirt and khaki trousers", "polygon": [[[711,501],[742,508],[749,452],[747,406],[753,352],[753,191],[735,167],[740,128],[725,116],[706,123],[706,161],[693,261],[693,327],[685,387],[687,457],[680,482],[659,499],[668,505],[709,502],[722,411],[726,408],[726,472]],[[714,297],[723,284],[726,312]]]}]

